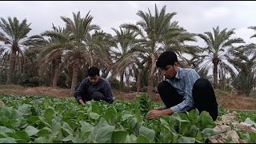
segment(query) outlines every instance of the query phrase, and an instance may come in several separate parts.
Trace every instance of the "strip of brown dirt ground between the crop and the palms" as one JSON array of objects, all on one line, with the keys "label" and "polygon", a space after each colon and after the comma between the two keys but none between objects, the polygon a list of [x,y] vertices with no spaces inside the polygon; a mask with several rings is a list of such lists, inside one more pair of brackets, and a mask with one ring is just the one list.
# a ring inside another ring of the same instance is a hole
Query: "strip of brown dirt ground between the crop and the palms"
[{"label": "strip of brown dirt ground between the crop and the palms", "polygon": [[[137,98],[136,92],[124,93],[119,90],[113,90],[116,100],[122,102],[134,102]],[[53,88],[46,86],[39,87],[23,87],[17,85],[0,86],[0,94],[13,94],[20,96],[44,95],[55,98],[74,98],[70,96],[70,89]],[[244,97],[236,94],[215,90],[217,102],[229,110],[253,110],[256,111],[256,96]],[[151,97],[153,102],[162,103],[159,94],[153,94]]]}]

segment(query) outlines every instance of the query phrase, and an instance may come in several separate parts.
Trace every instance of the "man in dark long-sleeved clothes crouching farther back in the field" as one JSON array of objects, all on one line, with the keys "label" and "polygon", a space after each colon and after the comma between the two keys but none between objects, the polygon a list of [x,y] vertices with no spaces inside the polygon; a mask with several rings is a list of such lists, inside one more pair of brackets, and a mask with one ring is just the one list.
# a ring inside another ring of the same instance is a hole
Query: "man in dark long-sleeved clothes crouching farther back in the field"
[{"label": "man in dark long-sleeved clothes crouching farther back in the field", "polygon": [[104,100],[108,103],[113,103],[110,82],[99,76],[98,68],[95,66],[90,67],[88,75],[89,77],[79,82],[75,88],[74,98],[78,103],[85,105],[87,101],[92,99],[94,101]]}]

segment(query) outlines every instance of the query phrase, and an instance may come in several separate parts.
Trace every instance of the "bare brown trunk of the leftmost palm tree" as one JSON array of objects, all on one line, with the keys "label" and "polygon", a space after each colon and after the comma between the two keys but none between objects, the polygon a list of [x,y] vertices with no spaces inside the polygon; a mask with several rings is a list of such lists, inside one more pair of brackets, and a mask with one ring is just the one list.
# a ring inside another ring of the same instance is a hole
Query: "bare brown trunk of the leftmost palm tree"
[{"label": "bare brown trunk of the leftmost palm tree", "polygon": [[7,74],[7,81],[6,81],[7,85],[13,83],[15,58],[16,58],[16,51],[12,50],[10,53],[10,68]]}]

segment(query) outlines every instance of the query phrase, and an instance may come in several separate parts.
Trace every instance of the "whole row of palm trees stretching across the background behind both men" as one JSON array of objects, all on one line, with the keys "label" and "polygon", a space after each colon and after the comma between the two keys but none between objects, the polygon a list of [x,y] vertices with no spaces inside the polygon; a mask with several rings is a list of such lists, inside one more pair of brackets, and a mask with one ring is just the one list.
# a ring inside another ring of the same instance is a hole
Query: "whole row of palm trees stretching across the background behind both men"
[{"label": "whole row of palm trees stretching across the background behind both men", "polygon": [[[234,89],[246,96],[255,90],[254,43],[232,38],[234,28],[217,26],[203,34],[190,33],[173,21],[176,14],[166,12],[166,6],[161,10],[155,6],[154,14],[138,10],[138,22],[112,28],[112,35],[93,23],[90,11],[84,17],[78,12],[73,18],[60,17],[66,26],[52,24],[51,30],[31,37],[27,36],[31,23],[26,18],[1,18],[0,84],[60,86],[70,88],[73,95],[89,67],[98,66],[114,88],[152,94],[164,79],[155,62],[163,51],[173,50],[180,66],[197,70],[214,89]],[[256,26],[248,28],[256,30]],[[256,34],[250,38],[254,37]],[[187,44],[197,38],[206,46]]]}]

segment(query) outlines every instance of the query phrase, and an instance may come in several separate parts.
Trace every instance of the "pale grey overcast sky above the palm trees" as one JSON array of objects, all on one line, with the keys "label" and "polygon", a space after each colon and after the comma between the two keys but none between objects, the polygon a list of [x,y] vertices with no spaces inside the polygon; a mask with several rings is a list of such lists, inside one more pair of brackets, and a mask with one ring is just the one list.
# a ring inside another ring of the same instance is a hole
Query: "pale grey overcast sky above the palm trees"
[{"label": "pale grey overcast sky above the palm trees", "polygon": [[81,12],[86,16],[94,16],[93,24],[101,26],[102,30],[114,34],[111,27],[118,29],[123,23],[135,23],[140,18],[136,15],[138,10],[148,12],[147,8],[154,14],[154,4],[158,10],[166,5],[166,12],[176,12],[172,21],[178,21],[179,26],[184,27],[192,33],[203,33],[212,31],[213,27],[220,26],[220,29],[235,28],[236,37],[243,38],[247,43],[256,42],[256,38],[250,38],[256,33],[248,26],[256,26],[256,2],[186,2],[186,1],[98,1],[98,2],[42,2],[42,1],[10,1],[0,2],[0,17],[17,17],[20,21],[26,18],[31,23],[29,34],[40,34],[50,30],[52,23],[55,26],[65,26],[60,16],[72,18],[72,12]]}]

